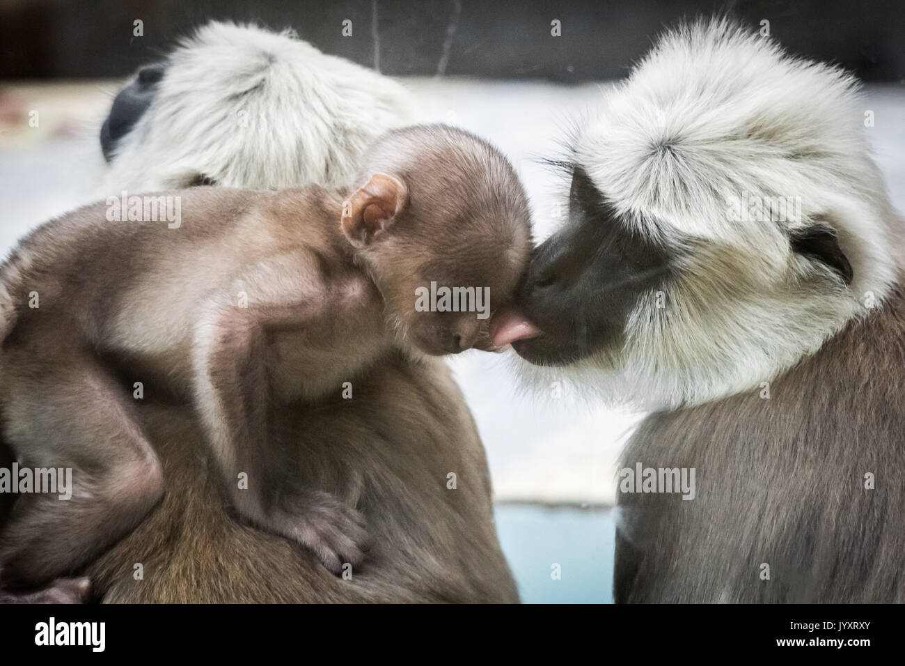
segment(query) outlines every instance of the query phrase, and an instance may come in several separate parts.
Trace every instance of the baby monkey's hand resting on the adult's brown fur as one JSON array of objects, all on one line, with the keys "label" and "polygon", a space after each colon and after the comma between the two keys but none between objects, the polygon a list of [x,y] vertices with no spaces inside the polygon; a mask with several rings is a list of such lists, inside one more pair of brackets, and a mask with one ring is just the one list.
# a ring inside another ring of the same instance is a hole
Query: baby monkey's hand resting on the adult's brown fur
[{"label": "baby monkey's hand resting on the adult's brown fur", "polygon": [[365,559],[369,545],[365,517],[329,493],[306,487],[282,490],[264,522],[268,529],[308,548],[334,574]]}]

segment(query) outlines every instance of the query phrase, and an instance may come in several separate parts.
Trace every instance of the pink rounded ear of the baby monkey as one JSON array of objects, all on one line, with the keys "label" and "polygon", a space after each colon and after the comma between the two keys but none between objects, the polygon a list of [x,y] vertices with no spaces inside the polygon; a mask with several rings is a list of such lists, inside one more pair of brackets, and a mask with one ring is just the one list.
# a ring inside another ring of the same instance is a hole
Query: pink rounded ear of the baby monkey
[{"label": "pink rounded ear of the baby monkey", "polygon": [[343,233],[353,246],[367,246],[386,236],[386,229],[407,205],[405,183],[387,173],[376,173],[343,207]]}]

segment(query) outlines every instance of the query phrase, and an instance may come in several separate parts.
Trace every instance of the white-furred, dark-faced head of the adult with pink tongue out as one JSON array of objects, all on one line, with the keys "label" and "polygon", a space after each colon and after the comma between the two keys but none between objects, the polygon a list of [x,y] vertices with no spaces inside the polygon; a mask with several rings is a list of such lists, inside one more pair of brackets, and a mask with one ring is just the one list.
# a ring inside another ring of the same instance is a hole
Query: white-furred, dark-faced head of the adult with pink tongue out
[{"label": "white-furred, dark-faced head of the adult with pink tongue out", "polygon": [[663,36],[576,132],[567,221],[495,341],[645,407],[757,389],[818,350],[899,265],[856,93],[726,21]]}]

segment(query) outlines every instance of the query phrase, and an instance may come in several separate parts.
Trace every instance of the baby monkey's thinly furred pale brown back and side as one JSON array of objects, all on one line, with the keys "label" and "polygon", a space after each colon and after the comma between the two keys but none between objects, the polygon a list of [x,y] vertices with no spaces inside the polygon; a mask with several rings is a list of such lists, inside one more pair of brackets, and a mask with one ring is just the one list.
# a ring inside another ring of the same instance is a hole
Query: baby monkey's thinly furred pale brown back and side
[{"label": "baby monkey's thinly furred pale brown back and side", "polygon": [[297,218],[306,208],[318,211],[321,193],[191,188],[139,195],[177,198],[177,225],[111,221],[110,206],[119,204],[106,202],[57,217],[25,236],[0,267],[0,335],[5,345],[40,345],[44,335],[66,329],[67,342],[165,352],[186,338],[198,301],[241,266],[279,246],[325,242],[316,225],[305,236],[297,229],[306,225],[272,218],[287,199]]}]

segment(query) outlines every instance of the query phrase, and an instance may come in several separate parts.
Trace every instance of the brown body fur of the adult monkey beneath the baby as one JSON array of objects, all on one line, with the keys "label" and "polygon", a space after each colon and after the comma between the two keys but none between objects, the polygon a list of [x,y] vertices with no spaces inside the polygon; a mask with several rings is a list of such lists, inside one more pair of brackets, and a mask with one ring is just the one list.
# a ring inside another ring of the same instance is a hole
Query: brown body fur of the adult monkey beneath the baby
[{"label": "brown body fur of the adult monkey beneath the baby", "polygon": [[[106,603],[517,603],[493,525],[481,441],[443,363],[394,356],[355,382],[352,400],[280,413],[304,437],[300,476],[355,502],[373,545],[352,580],[224,511],[191,414],[139,410],[159,442],[167,497],[90,565]],[[455,472],[456,489],[446,475]],[[133,566],[144,565],[144,580]]]}]

